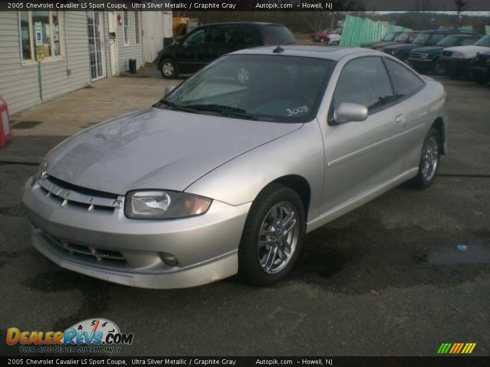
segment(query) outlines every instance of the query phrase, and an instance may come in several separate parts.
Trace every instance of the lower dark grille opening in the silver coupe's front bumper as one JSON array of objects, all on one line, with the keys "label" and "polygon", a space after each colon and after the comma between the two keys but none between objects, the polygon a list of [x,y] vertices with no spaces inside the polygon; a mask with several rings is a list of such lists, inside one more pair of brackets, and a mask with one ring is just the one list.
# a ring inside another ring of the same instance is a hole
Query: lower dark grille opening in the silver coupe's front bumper
[{"label": "lower dark grille opening in the silver coupe's front bumper", "polygon": [[45,242],[58,250],[62,250],[66,255],[80,258],[83,260],[97,263],[118,263],[126,264],[126,258],[120,252],[97,249],[91,246],[76,244],[53,237],[51,234],[41,232]]}]

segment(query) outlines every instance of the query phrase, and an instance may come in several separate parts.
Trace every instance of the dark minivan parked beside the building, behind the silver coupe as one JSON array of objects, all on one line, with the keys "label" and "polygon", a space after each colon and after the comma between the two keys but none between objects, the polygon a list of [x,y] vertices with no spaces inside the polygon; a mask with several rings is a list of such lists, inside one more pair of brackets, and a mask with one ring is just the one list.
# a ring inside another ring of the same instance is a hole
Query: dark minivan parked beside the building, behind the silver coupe
[{"label": "dark minivan parked beside the building, behind the silver coupe", "polygon": [[242,48],[295,43],[295,36],[282,24],[207,24],[161,50],[154,63],[164,78],[176,78],[179,74],[193,73],[218,57]]}]

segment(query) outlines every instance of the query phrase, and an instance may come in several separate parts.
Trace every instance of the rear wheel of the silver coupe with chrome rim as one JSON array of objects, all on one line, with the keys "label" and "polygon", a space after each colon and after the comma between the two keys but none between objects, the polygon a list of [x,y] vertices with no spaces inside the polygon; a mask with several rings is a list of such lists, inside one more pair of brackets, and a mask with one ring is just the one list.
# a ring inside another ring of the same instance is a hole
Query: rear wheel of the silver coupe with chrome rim
[{"label": "rear wheel of the silver coupe with chrome rim", "polygon": [[[435,151],[433,150],[435,148]],[[431,150],[431,151],[428,151]],[[437,170],[439,169],[440,151],[442,143],[437,129],[431,127],[424,139],[422,154],[419,163],[419,172],[410,180],[411,186],[415,189],[428,189],[434,182]],[[435,159],[435,160],[434,160]],[[429,171],[426,171],[427,169]]]}]

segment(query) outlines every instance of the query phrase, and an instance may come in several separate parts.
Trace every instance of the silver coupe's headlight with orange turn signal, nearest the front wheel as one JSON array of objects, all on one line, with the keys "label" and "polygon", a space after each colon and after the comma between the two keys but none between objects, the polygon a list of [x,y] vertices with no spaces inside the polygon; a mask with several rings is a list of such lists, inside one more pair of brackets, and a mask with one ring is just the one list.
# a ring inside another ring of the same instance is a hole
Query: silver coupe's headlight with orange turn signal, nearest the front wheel
[{"label": "silver coupe's headlight with orange turn signal, nearest the front wheel", "polygon": [[124,212],[133,219],[175,219],[204,214],[211,199],[177,191],[130,191]]}]

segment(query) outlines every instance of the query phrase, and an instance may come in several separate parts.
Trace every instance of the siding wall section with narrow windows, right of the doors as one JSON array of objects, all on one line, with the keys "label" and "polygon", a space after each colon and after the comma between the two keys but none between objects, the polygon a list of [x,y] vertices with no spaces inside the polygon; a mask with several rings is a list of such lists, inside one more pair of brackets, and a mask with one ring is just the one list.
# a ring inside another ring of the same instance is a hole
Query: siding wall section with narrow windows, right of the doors
[{"label": "siding wall section with narrow windows, right of the doors", "polygon": [[[136,58],[136,67],[143,64],[143,37],[141,36],[141,12],[139,11],[139,44],[134,42],[134,11],[128,11],[129,45],[124,45],[123,25],[117,26],[117,47],[119,51],[119,72],[129,70],[129,59]],[[118,12],[122,16],[122,12]]]}]

